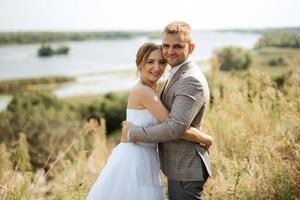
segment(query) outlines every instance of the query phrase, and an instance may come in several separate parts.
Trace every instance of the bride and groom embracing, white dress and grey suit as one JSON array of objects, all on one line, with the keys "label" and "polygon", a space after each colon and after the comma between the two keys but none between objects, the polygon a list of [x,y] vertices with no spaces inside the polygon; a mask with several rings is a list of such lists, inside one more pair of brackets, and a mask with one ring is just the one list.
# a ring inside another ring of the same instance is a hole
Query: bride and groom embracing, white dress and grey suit
[{"label": "bride and groom embracing, white dress and grey suit", "polygon": [[[168,24],[162,45],[145,43],[136,55],[140,80],[129,93],[122,141],[88,194],[89,200],[201,199],[211,176],[212,138],[199,130],[209,100],[207,81],[191,59],[195,44],[185,22]],[[160,96],[159,78],[170,76]]]}]

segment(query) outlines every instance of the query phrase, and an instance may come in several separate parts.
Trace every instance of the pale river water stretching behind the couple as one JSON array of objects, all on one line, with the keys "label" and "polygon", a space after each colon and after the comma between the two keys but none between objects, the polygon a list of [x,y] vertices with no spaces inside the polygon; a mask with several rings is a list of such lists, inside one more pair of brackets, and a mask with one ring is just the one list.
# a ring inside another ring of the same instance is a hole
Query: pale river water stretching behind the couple
[{"label": "pale river water stretching behind the couple", "polygon": [[[252,48],[259,36],[252,33],[198,31],[193,34],[196,43],[193,58],[207,60],[214,49],[228,45]],[[59,97],[128,89],[135,77],[124,77],[118,71],[135,68],[137,49],[147,41],[147,37],[137,37],[66,42],[70,47],[68,55],[43,58],[37,56],[40,44],[0,46],[0,80],[60,75],[75,77],[74,83],[53,91]],[[159,43],[160,40],[153,42]],[[54,43],[53,47],[58,45],[61,43]],[[112,71],[116,73],[107,73]],[[0,110],[5,109],[9,99],[0,96]]]}]

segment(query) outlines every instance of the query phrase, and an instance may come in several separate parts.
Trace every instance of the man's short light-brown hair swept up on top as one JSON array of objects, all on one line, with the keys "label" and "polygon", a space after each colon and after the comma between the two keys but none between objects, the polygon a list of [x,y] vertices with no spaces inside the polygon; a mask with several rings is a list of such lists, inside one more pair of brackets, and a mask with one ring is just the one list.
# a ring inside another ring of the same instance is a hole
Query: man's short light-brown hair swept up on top
[{"label": "man's short light-brown hair swept up on top", "polygon": [[182,21],[174,21],[168,24],[163,30],[163,36],[165,34],[183,34],[186,42],[192,42],[192,28],[191,26]]}]

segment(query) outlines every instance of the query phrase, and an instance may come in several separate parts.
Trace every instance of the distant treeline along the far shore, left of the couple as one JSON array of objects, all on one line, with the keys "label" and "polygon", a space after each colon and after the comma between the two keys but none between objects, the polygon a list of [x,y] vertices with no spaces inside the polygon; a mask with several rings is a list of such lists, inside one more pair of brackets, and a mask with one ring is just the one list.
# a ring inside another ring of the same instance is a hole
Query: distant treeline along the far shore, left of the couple
[{"label": "distant treeline along the far shore, left of the couple", "polygon": [[104,40],[122,39],[146,36],[150,38],[160,37],[160,32],[2,32],[0,33],[0,45],[5,44],[27,44],[47,43],[61,41],[82,41],[82,40]]}]

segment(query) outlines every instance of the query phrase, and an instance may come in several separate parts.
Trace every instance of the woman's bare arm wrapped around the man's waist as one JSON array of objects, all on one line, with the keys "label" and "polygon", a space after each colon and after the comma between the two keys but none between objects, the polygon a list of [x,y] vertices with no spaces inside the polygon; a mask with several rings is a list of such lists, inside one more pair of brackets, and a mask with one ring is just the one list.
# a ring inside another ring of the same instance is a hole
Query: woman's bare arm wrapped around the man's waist
[{"label": "woman's bare arm wrapped around the man's waist", "polygon": [[[141,87],[133,95],[135,100],[145,107],[159,122],[164,122],[167,119],[169,111],[151,88],[146,86]],[[126,124],[128,125],[128,123],[125,123],[124,125],[126,126]],[[128,129],[129,128],[130,127],[128,127]],[[212,144],[211,136],[193,127],[187,129],[181,138],[184,140],[204,144],[207,149]]]}]

